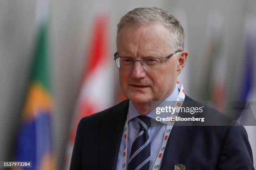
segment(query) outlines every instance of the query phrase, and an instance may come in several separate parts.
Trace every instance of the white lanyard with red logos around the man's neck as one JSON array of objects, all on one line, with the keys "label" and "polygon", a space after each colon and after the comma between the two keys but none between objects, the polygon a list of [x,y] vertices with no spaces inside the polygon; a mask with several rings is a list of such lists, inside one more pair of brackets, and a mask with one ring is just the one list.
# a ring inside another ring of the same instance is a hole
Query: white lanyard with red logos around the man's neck
[{"label": "white lanyard with red logos around the man's neck", "polygon": [[[177,81],[177,86],[179,87],[179,95],[177,97],[177,100],[174,104],[174,107],[177,106],[177,107],[181,107],[182,104],[183,104],[183,101],[184,101],[184,98],[185,98],[185,93],[184,93],[184,88],[183,88],[183,85]],[[177,116],[179,114],[179,112],[174,112],[174,114],[170,114],[170,117],[174,117],[174,120],[175,120],[175,116]],[[127,139],[128,139],[128,115],[129,115],[129,112],[127,114],[127,117],[126,117],[126,120],[125,120],[125,127],[124,127],[124,130],[123,130],[123,138],[125,140],[125,149],[123,151],[123,163],[122,163],[122,170],[126,170],[126,161],[127,161]],[[164,139],[163,139],[163,142],[162,142],[162,145],[161,145],[161,148],[159,150],[159,153],[158,153],[158,156],[156,158],[156,161],[153,165],[153,168],[152,170],[156,170],[159,168],[159,165],[161,163],[161,160],[164,156],[164,150],[165,150],[165,147],[166,147],[166,144],[167,144],[167,140],[169,138],[169,135],[170,135],[170,132],[171,132],[171,129],[172,129],[172,126],[174,125],[174,121],[171,122],[171,121],[168,121],[167,125],[166,125],[166,128],[165,128],[165,132],[164,132]]]}]

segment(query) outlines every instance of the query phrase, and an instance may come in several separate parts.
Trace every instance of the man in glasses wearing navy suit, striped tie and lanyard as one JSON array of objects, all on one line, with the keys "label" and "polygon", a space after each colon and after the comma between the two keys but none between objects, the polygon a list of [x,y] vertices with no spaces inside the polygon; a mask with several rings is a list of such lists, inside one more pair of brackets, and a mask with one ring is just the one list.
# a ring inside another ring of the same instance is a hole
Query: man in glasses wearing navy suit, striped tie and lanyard
[{"label": "man in glasses wearing navy suit, striped tie and lanyard", "polygon": [[[116,44],[120,87],[128,100],[80,121],[71,170],[253,169],[240,125],[151,126],[153,101],[194,101],[177,85],[188,52],[174,16],[156,7],[136,8],[121,18]],[[200,116],[206,113],[227,121],[210,107]]]}]

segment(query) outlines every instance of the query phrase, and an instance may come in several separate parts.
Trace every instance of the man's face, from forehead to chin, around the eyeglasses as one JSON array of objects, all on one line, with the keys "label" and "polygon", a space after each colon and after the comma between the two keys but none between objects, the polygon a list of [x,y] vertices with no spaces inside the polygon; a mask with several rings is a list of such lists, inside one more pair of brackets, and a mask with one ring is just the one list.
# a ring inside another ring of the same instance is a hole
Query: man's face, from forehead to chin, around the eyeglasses
[{"label": "man's face, from forehead to chin, around the eyeglasses", "polygon": [[[117,35],[118,56],[140,60],[144,57],[163,59],[172,54],[171,33],[162,24],[124,25]],[[178,54],[165,60],[158,70],[144,70],[136,61],[132,70],[119,70],[123,94],[133,103],[143,104],[164,100],[174,90],[177,81]]]}]

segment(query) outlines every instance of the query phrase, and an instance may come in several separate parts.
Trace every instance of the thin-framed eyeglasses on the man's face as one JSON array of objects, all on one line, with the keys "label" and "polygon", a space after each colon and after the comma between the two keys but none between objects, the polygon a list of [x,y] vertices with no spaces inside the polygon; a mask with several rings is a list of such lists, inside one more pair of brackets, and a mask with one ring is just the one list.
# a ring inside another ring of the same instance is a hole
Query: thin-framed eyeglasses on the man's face
[{"label": "thin-framed eyeglasses on the man's face", "polygon": [[131,57],[119,57],[119,56],[117,56],[118,52],[116,52],[114,54],[114,60],[115,60],[116,66],[121,70],[132,70],[136,61],[140,61],[141,66],[145,70],[157,70],[157,69],[161,68],[161,63],[163,61],[168,60],[174,54],[176,54],[177,52],[181,52],[181,51],[182,50],[177,50],[174,53],[165,57],[164,59],[147,57],[147,58],[141,58],[141,60],[135,60],[134,58],[131,58]]}]

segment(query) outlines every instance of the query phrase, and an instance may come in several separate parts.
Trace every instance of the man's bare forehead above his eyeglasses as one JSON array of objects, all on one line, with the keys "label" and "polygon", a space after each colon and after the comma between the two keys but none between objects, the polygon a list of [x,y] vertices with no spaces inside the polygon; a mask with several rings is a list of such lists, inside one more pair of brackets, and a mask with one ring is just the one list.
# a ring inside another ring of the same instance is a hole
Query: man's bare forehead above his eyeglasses
[{"label": "man's bare forehead above his eyeglasses", "polygon": [[162,23],[124,25],[117,35],[118,52],[145,53],[171,47],[171,33]]}]

